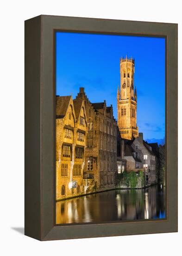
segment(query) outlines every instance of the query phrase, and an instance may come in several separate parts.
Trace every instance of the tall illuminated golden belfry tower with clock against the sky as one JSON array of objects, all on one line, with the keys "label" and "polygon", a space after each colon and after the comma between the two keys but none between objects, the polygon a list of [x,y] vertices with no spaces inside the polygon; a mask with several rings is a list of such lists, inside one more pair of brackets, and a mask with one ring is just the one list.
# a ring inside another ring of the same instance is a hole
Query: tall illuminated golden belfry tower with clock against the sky
[{"label": "tall illuminated golden belfry tower with clock against the sky", "polygon": [[120,91],[117,92],[118,127],[121,138],[138,137],[137,90],[134,91],[134,59],[120,59]]}]

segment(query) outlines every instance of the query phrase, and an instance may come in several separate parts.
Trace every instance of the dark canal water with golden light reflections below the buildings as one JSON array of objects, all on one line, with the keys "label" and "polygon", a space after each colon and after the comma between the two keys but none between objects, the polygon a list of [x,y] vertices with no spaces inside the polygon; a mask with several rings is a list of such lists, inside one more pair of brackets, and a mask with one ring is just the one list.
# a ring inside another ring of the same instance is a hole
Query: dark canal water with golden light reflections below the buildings
[{"label": "dark canal water with golden light reflections below the buildings", "polygon": [[117,189],[56,202],[56,224],[162,219],[165,188]]}]

